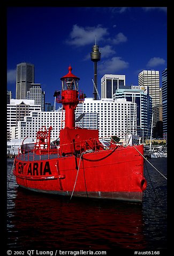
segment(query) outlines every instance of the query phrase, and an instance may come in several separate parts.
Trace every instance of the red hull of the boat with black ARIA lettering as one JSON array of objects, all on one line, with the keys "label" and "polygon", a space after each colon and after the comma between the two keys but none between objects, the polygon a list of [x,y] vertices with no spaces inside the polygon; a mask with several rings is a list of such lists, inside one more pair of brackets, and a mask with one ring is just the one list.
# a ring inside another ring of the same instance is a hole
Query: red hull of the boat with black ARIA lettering
[{"label": "red hull of the boat with black ARIA lettering", "polygon": [[143,145],[84,153],[77,161],[74,155],[20,154],[13,173],[19,186],[33,191],[142,202],[142,155]]}]

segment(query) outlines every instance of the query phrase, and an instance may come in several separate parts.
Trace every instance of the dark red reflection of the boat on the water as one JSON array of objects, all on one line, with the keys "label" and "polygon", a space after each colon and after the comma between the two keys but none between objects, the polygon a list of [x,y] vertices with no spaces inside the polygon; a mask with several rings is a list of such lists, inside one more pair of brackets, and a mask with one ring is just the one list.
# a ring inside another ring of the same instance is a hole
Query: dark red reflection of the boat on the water
[{"label": "dark red reflection of the boat on the water", "polygon": [[145,248],[141,205],[28,193],[18,188],[8,210],[9,245],[107,250]]}]

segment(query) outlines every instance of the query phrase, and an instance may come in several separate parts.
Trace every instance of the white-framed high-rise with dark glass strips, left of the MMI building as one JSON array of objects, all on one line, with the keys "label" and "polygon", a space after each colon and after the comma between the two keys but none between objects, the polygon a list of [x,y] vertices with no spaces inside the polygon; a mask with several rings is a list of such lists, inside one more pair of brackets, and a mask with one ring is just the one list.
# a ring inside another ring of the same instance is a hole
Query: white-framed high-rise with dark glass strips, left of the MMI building
[{"label": "white-framed high-rise with dark glass strips, left of the MMI building", "polygon": [[101,78],[101,98],[112,98],[119,86],[125,86],[125,75],[104,75]]}]

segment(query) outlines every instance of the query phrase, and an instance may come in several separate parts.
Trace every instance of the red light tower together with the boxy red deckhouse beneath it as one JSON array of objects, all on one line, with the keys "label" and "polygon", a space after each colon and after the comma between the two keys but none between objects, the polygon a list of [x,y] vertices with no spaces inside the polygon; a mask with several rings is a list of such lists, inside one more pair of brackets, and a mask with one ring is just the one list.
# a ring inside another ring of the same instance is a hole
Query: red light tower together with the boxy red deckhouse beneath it
[{"label": "red light tower together with the boxy red deckhouse beneath it", "polygon": [[[84,94],[79,94],[79,77],[71,73],[72,67],[69,66],[69,73],[60,78],[62,80],[62,93],[58,98],[58,103],[62,103],[65,109],[65,128],[60,130],[59,154],[72,154],[79,149],[84,151],[100,144],[99,130],[81,129],[75,127],[75,108],[79,102],[84,100]],[[97,140],[94,145],[94,139]],[[90,144],[90,147],[89,147]]]}]

